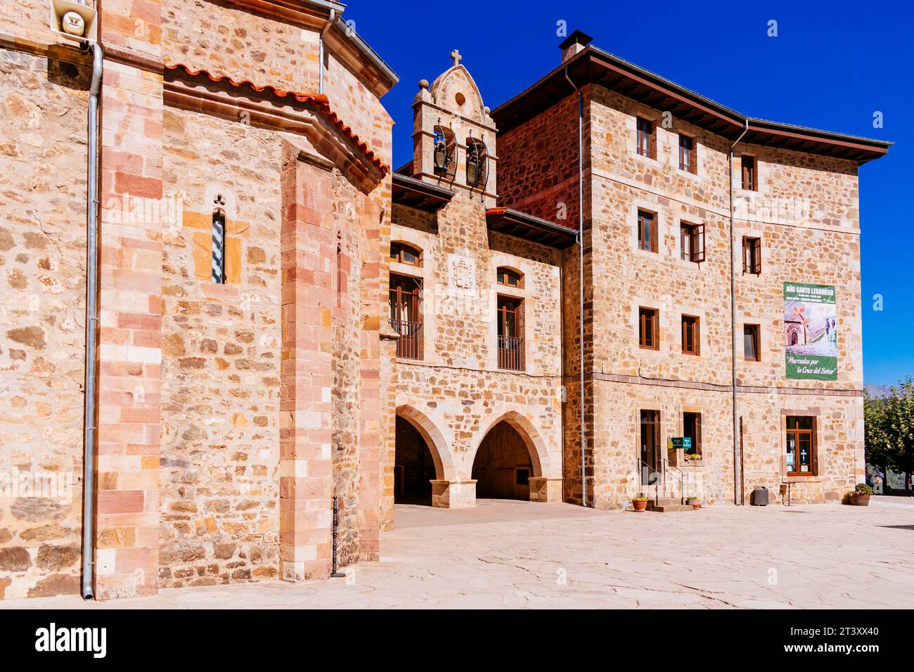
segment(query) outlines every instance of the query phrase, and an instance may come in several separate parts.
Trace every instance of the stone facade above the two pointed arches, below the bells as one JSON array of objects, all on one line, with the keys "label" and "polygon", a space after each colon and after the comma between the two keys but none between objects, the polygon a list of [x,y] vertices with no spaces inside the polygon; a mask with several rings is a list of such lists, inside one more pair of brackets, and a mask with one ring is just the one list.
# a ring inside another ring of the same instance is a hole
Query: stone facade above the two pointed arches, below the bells
[{"label": "stone facade above the two pointed arches, below the bells", "polygon": [[[469,482],[480,443],[502,420],[524,437],[534,475],[560,478],[560,252],[488,232],[479,195],[464,190],[437,215],[394,206],[391,240],[422,252],[419,269],[390,262],[391,272],[420,276],[423,283],[423,357],[398,360],[397,407],[430,443],[438,479]],[[456,257],[473,267],[469,291],[455,286]],[[498,285],[500,266],[522,272],[523,287]],[[498,368],[499,293],[524,299],[524,371]],[[451,504],[457,506],[456,500]]]}]

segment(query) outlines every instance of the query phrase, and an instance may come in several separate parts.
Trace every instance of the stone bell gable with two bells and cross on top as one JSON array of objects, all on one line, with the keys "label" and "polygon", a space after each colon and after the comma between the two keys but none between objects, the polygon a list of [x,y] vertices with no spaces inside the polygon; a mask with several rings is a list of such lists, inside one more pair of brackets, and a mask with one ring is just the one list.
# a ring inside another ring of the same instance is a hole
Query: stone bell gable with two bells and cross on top
[{"label": "stone bell gable with two bells and cross on top", "polygon": [[453,66],[429,86],[419,82],[413,100],[412,176],[466,190],[486,208],[495,205],[495,123],[470,72],[451,52]]}]

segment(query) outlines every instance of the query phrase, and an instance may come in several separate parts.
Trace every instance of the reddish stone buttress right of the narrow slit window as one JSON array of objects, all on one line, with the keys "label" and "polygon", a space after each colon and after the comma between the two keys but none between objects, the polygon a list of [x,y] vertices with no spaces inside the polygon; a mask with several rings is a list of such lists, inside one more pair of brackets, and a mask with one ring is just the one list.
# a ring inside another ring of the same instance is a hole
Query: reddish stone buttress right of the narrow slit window
[{"label": "reddish stone buttress right of the narrow slit window", "polygon": [[336,241],[329,165],[282,155],[280,575],[330,570],[333,310]]}]

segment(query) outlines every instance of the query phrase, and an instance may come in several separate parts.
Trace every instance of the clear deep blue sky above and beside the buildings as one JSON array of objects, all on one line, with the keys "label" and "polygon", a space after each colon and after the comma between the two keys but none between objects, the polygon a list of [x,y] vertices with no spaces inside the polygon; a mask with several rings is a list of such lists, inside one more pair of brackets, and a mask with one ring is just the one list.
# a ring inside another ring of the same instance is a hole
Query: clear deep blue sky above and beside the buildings
[{"label": "clear deep blue sky above and beside the buildings", "polygon": [[[860,169],[864,378],[914,375],[914,27],[911,3],[352,0],[344,17],[400,76],[383,102],[394,165],[412,155],[410,103],[460,49],[497,107],[558,65],[557,22],[594,45],[750,116],[895,142]],[[768,37],[768,22],[778,37]],[[873,113],[884,127],[873,127]],[[884,309],[873,310],[874,294]]]}]

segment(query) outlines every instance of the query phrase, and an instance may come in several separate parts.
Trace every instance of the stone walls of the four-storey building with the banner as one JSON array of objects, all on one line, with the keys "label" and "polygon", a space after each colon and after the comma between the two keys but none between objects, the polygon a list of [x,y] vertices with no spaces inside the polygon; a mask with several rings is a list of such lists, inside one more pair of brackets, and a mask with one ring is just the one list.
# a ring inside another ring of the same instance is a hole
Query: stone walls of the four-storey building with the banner
[{"label": "stone walls of the four-storey building with the banner", "polygon": [[[660,412],[664,445],[667,438],[682,435],[684,411],[702,414],[704,457],[686,463],[687,481],[700,486],[708,502],[732,501],[728,141],[675,119],[664,128],[660,111],[613,91],[587,86],[583,93],[589,498],[592,494],[597,507],[624,507],[643,489],[637,460],[639,411],[644,409]],[[569,159],[576,149],[576,107],[576,97],[569,96],[499,136],[499,205],[555,221],[557,203],[575,202],[577,165]],[[635,152],[638,115],[655,123],[655,158]],[[678,167],[680,132],[696,138],[695,174]],[[740,188],[743,152],[756,156],[757,192]],[[734,165],[737,251],[743,235],[758,236],[763,257],[760,276],[743,275],[740,265],[737,277],[738,333],[741,337],[743,323],[762,329],[760,362],[744,361],[739,341],[746,454],[738,468],[745,477],[745,496],[748,500],[755,485],[766,485],[780,501],[781,483],[790,482],[794,501],[834,499],[863,474],[856,164],[741,144]],[[639,208],[656,215],[657,252],[638,249]],[[576,209],[569,208],[569,220],[576,216]],[[700,264],[681,258],[683,221],[705,227],[707,257]],[[578,250],[565,251],[564,485],[565,499],[574,502],[580,501],[581,491],[578,266]],[[787,281],[836,286],[838,380],[785,378],[782,285]],[[638,346],[639,306],[659,310],[657,350]],[[698,356],[682,352],[682,315],[700,319]],[[828,393],[799,393],[816,389]],[[821,443],[815,477],[787,477],[783,470],[788,414],[817,416]],[[663,456],[685,469],[681,452],[664,450]]]}]

